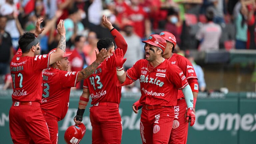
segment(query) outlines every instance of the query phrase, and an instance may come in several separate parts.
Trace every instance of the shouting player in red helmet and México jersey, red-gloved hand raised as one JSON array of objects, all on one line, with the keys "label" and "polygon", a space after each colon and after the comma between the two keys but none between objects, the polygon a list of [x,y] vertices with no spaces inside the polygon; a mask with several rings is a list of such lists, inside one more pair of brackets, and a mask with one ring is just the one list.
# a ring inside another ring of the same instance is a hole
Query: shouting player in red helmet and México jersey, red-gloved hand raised
[{"label": "shouting player in red helmet and M\u00e9xico jersey, red-gloved hand raised", "polygon": [[[137,61],[126,73],[123,68],[117,68],[117,77],[121,86],[140,79],[140,103],[143,105],[140,123],[142,143],[167,144],[175,116],[178,89],[182,89],[185,95],[187,119],[195,117],[193,94],[182,70],[162,57],[166,40],[154,34],[143,42],[146,59]],[[125,61],[122,52],[117,51],[114,57],[116,65],[122,67]]]}]

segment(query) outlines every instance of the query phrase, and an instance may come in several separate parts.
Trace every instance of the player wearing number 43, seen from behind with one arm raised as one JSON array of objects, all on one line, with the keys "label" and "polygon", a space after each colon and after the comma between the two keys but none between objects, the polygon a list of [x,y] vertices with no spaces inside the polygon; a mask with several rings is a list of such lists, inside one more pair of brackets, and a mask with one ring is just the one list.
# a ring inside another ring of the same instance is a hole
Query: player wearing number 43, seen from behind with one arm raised
[{"label": "player wearing number 43, seen from behind with one arm raised", "polygon": [[[114,37],[117,47],[124,53],[127,43],[123,36],[112,26],[103,15],[102,23],[107,27]],[[80,97],[77,115],[74,118],[76,124],[82,121],[83,113],[91,96],[93,105],[90,108],[90,120],[92,124],[93,144],[120,144],[122,137],[122,120],[119,114],[119,103],[121,98],[121,87],[116,86],[116,65],[113,59],[113,40],[102,38],[97,43],[97,48],[107,49],[111,56],[106,58],[95,70],[95,72],[84,80],[83,93]]]}]

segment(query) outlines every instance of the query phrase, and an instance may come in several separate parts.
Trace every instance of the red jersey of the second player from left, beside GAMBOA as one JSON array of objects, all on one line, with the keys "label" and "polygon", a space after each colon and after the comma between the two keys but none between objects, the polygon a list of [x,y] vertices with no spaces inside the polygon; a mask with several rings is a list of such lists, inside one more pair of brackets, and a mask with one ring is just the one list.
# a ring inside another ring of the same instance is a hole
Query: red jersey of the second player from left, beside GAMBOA
[{"label": "red jersey of the second player from left, beside GAMBOA", "polygon": [[71,87],[75,87],[79,72],[50,68],[43,72],[43,95],[41,108],[62,120],[69,106]]}]

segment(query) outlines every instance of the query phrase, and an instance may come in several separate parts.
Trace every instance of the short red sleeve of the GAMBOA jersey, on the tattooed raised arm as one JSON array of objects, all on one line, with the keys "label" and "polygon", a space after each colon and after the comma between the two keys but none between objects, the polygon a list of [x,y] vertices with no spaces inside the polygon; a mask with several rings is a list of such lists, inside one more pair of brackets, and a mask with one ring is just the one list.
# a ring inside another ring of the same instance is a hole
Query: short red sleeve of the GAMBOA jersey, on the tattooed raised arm
[{"label": "short red sleeve of the GAMBOA jersey, on the tattooed raised arm", "polygon": [[36,55],[32,59],[32,67],[35,71],[49,68],[50,54]]}]

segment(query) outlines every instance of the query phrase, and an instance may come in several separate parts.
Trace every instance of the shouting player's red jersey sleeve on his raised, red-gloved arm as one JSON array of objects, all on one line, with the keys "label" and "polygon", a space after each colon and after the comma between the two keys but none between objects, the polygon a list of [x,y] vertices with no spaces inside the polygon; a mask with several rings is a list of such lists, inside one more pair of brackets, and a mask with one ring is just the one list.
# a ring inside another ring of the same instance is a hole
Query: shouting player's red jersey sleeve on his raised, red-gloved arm
[{"label": "shouting player's red jersey sleeve on his raised, red-gloved arm", "polygon": [[140,63],[141,63],[141,60],[137,61],[131,68],[129,68],[126,71],[126,76],[129,79],[132,79],[133,81],[136,81],[137,79],[140,78],[140,73],[139,73]]}]

